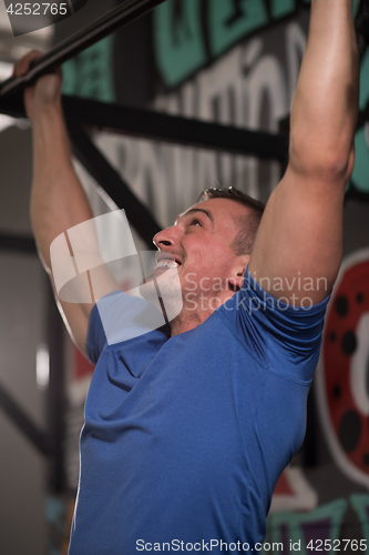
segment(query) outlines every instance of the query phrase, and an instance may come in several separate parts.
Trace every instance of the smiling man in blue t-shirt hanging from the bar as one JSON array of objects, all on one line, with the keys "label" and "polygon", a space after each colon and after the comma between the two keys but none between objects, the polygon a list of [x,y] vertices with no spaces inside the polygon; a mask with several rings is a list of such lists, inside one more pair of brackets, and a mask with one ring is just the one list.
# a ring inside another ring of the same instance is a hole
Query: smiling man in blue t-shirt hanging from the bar
[{"label": "smiling man in blue t-shirt hanging from the bar", "polygon": [[[183,309],[170,326],[107,344],[92,303],[60,303],[75,343],[96,364],[71,555],[259,549],[274,486],[304,437],[340,264],[358,111],[351,8],[351,0],[311,1],[289,164],[254,244],[260,206],[211,193],[154,238],[160,255],[147,285],[155,278],[165,286],[177,272],[182,287]],[[71,165],[60,88],[58,73],[25,91],[31,216],[49,273],[51,242],[92,218]]]}]

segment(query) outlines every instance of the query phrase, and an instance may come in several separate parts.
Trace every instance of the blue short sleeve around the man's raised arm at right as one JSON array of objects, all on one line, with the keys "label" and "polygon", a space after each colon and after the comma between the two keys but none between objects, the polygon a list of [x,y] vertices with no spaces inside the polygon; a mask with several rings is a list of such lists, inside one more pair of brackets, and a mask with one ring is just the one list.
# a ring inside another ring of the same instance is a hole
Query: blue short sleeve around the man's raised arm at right
[{"label": "blue short sleeve around the man's raised arm at right", "polygon": [[287,377],[309,381],[329,299],[316,305],[287,304],[264,291],[247,268],[243,289],[221,306],[219,316],[257,361]]}]

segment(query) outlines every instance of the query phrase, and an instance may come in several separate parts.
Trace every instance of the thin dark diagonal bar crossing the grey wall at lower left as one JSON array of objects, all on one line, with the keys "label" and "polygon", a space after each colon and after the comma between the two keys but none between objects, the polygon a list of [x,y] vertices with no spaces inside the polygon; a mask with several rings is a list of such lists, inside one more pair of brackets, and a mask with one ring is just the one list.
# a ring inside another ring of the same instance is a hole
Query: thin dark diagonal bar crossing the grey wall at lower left
[{"label": "thin dark diagonal bar crossing the grey wall at lower left", "polygon": [[42,432],[19,406],[19,404],[0,385],[0,408],[16,424],[18,430],[32,443],[42,455],[49,455],[49,440],[45,432]]}]

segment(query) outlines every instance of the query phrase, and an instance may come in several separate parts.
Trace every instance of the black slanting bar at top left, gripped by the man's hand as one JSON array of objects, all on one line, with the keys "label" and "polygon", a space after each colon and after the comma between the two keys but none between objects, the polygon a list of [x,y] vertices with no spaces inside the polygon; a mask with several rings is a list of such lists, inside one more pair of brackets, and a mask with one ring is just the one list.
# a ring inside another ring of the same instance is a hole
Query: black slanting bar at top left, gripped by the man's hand
[{"label": "black slanting bar at top left, gripped by the man's hand", "polygon": [[20,78],[7,79],[0,88],[0,97],[13,95],[35,81],[39,77],[52,71],[53,68],[70,60],[79,52],[107,37],[121,27],[131,23],[165,0],[126,0],[99,21],[88,26],[82,31],[49,50],[39,58],[30,71]]}]

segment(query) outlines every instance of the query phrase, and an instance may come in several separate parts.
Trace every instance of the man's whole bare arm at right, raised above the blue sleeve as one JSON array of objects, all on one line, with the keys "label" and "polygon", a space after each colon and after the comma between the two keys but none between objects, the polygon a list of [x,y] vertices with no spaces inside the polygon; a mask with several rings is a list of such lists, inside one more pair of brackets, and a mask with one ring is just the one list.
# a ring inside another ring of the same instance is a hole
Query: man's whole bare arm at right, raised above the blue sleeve
[{"label": "man's whole bare arm at right, raised above the blue sleeve", "polygon": [[341,261],[359,97],[351,10],[352,0],[311,0],[291,108],[289,164],[267,203],[249,263],[265,290],[296,305],[304,297],[322,301]]}]

